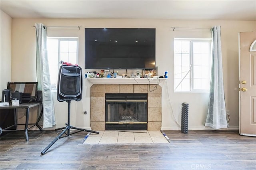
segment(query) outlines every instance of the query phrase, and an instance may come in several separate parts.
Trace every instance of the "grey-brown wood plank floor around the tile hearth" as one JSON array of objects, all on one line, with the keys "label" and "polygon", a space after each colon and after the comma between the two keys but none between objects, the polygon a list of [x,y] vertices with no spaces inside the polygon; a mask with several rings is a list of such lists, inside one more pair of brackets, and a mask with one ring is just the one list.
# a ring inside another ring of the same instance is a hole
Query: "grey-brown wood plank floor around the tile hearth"
[{"label": "grey-brown wood plank floor around the tile hearth", "polygon": [[12,132],[0,140],[0,169],[256,170],[256,138],[237,130],[164,130],[173,145],[79,145],[86,132],[58,139],[60,131]]}]

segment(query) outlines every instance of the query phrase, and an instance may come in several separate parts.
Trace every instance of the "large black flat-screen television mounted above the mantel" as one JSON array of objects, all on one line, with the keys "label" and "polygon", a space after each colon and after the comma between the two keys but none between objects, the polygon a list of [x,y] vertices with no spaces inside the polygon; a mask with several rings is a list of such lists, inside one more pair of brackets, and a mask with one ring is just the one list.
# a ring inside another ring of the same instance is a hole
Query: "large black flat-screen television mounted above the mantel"
[{"label": "large black flat-screen television mounted above the mantel", "polygon": [[155,28],[85,28],[86,69],[154,69]]}]

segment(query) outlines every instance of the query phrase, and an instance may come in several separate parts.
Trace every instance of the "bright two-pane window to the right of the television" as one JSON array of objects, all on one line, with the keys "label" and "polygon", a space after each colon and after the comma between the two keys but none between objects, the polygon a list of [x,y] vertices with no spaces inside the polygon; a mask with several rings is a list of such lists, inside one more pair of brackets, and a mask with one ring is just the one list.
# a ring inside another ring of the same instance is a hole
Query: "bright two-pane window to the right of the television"
[{"label": "bright two-pane window to the right of the television", "polygon": [[174,91],[208,91],[209,39],[174,39]]}]

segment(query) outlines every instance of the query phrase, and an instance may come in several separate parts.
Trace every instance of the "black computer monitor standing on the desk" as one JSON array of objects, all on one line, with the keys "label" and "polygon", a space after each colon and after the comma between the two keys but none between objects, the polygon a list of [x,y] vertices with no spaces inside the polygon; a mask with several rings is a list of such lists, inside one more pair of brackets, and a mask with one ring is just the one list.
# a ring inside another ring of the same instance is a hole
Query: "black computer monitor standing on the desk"
[{"label": "black computer monitor standing on the desk", "polygon": [[7,89],[10,89],[10,93],[19,92],[22,93],[22,102],[36,102],[37,98],[37,82],[18,82],[9,81],[7,83]]}]

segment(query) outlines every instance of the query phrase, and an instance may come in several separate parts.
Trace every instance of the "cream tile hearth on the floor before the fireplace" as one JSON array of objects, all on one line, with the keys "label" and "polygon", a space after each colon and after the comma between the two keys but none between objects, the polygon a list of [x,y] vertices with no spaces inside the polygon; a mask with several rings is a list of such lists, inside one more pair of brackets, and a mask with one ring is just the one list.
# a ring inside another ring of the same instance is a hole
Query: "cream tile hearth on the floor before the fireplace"
[{"label": "cream tile hearth on the floor before the fireplace", "polygon": [[[159,130],[105,130],[91,133],[83,144],[169,144]],[[141,133],[143,132],[143,133]]]}]

